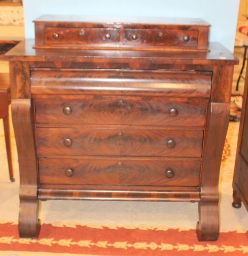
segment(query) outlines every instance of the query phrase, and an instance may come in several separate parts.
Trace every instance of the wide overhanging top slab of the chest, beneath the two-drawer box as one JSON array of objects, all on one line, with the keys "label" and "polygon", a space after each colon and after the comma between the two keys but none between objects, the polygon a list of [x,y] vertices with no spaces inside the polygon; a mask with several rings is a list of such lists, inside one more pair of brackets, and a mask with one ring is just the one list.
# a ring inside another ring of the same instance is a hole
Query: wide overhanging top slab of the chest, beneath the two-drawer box
[{"label": "wide overhanging top slab of the chest, beneath the two-drawer box", "polygon": [[[194,65],[234,65],[238,63],[230,51],[219,43],[210,43],[210,52],[170,51],[170,50],[80,50],[80,49],[33,49],[34,40],[20,42],[5,54],[6,60],[42,62],[86,62],[97,63],[104,68],[142,69],[142,66],[168,64]],[[154,68],[153,68],[154,69]]]}]

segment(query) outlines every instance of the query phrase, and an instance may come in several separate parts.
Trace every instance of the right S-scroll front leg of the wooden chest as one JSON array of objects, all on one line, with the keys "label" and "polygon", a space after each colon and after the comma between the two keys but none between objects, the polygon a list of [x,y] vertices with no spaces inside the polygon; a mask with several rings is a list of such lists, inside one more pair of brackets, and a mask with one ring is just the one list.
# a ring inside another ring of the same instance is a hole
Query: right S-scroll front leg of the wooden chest
[{"label": "right S-scroll front leg of the wooden chest", "polygon": [[219,172],[230,114],[228,103],[208,103],[200,180],[198,240],[215,241],[219,236]]}]

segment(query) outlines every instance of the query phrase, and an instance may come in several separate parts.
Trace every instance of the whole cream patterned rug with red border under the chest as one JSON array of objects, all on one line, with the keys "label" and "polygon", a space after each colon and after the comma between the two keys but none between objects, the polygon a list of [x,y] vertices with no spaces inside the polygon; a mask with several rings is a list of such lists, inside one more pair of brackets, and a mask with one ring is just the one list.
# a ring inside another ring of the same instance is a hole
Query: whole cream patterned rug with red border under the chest
[{"label": "whole cream patterned rug with red border under the chest", "polygon": [[[2,124],[1,124],[2,125]],[[184,202],[41,203],[40,236],[18,236],[18,164],[12,133],[14,174],[8,179],[0,126],[0,256],[204,256],[248,255],[248,214],[232,208],[232,176],[239,122],[230,122],[220,173],[220,237],[198,242],[197,204]]]}]

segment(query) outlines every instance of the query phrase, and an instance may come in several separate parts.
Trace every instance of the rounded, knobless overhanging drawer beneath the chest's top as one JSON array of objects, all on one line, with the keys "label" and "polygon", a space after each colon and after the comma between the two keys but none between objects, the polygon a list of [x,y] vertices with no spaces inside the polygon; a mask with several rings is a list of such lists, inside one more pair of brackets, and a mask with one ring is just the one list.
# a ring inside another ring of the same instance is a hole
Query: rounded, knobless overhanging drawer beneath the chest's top
[{"label": "rounded, knobless overhanging drawer beneath the chest's top", "polygon": [[33,70],[32,94],[209,98],[211,72]]}]

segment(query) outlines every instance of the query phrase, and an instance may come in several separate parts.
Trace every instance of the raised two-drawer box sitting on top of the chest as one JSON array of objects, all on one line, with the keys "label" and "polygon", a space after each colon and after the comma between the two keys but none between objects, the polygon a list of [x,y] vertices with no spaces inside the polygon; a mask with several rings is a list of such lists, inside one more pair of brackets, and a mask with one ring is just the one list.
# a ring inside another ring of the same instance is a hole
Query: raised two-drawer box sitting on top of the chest
[{"label": "raised two-drawer box sitting on top of the chest", "polygon": [[[192,19],[178,19],[176,23],[174,20],[174,24],[160,24],[164,19],[119,17],[118,22],[82,22],[82,17],[78,17],[78,22],[67,22],[66,20],[62,21],[62,17],[58,17],[60,21],[55,21],[52,16],[47,16],[47,18],[46,21],[43,19],[34,21],[36,30],[36,45],[34,47],[69,48],[76,45],[78,48],[109,46],[112,49],[132,47],[156,50],[170,47],[174,50],[207,50],[209,25],[202,20],[195,20],[199,24],[193,24]],[[64,16],[64,18],[68,17]],[[86,20],[92,19],[85,18]],[[99,20],[99,17],[97,19]],[[116,20],[114,17],[110,17],[110,19]],[[134,22],[125,22],[127,20],[134,20]],[[142,20],[144,22],[141,24]],[[154,23],[155,20],[156,23]],[[180,24],[181,21],[184,24]],[[53,37],[54,33],[57,34],[55,38]],[[132,34],[134,33],[137,38],[133,40]],[[110,38],[107,40],[106,34],[110,34]],[[45,38],[41,35],[45,35]],[[189,36],[189,39],[185,41],[184,36]]]}]

